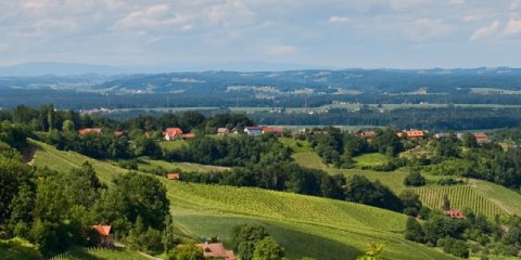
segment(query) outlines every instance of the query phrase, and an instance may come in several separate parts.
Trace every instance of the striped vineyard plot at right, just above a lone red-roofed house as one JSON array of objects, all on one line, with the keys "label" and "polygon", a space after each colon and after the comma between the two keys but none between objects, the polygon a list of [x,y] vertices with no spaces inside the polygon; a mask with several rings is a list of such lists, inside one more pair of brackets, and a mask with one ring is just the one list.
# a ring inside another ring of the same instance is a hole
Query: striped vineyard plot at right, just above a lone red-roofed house
[{"label": "striped vineyard plot at right, just above a lone red-roofed house", "polygon": [[441,209],[443,196],[446,194],[454,209],[470,208],[490,218],[507,213],[469,185],[416,187],[414,191],[420,195],[420,199],[424,205],[434,209]]}]

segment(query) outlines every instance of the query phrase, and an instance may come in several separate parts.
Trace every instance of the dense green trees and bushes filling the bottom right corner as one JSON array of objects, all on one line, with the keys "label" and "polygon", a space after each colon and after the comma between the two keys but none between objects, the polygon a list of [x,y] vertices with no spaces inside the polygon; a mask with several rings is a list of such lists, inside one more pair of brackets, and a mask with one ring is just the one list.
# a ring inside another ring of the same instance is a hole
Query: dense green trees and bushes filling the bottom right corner
[{"label": "dense green trees and bushes filling the bottom right corner", "polygon": [[487,259],[490,253],[519,256],[520,217],[490,221],[485,216],[475,214],[471,210],[465,210],[465,219],[453,219],[441,211],[433,211],[423,223],[409,217],[405,238],[442,247],[445,252],[460,258],[468,258],[470,252],[480,253],[482,259]]}]

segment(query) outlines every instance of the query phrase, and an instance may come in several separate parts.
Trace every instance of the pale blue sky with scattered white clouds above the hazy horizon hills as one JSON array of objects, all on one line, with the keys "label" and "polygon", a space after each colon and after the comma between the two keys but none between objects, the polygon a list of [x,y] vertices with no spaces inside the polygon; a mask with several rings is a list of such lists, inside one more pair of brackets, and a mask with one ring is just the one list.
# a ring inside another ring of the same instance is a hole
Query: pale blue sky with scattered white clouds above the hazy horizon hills
[{"label": "pale blue sky with scattered white clouds above the hazy horizon hills", "polygon": [[0,65],[521,67],[521,0],[0,0]]}]

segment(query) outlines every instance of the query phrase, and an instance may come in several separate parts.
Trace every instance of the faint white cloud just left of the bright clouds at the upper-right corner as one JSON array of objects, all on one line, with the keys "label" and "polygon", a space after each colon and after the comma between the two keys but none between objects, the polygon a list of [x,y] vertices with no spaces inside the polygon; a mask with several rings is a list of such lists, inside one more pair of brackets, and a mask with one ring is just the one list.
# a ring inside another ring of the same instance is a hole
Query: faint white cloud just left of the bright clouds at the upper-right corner
[{"label": "faint white cloud just left of the bright clouds at the upper-right corner", "polygon": [[442,20],[418,18],[405,24],[403,34],[412,41],[440,39],[453,31],[453,26]]}]

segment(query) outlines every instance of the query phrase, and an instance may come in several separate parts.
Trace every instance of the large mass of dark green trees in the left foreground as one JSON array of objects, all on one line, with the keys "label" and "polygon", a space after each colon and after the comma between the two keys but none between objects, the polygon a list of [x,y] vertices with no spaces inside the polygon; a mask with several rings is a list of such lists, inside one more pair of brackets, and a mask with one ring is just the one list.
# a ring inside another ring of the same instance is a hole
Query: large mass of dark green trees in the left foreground
[{"label": "large mass of dark green trees in the left foreground", "polygon": [[7,143],[0,143],[0,151],[2,237],[28,239],[43,256],[96,245],[93,224],[111,224],[117,238],[144,251],[162,251],[175,243],[165,232],[171,224],[169,202],[155,178],[129,173],[105,186],[88,162],[55,172],[27,166]]}]

